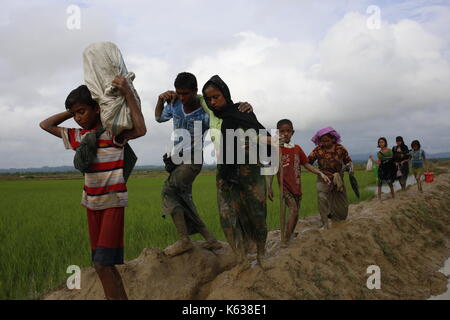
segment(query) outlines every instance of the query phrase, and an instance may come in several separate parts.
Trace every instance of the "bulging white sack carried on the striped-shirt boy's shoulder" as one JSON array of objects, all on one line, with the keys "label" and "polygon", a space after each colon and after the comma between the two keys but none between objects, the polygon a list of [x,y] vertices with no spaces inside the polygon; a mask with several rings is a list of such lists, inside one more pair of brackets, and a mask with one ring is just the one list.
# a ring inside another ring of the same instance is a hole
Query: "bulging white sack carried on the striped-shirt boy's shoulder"
[{"label": "bulging white sack carried on the striped-shirt boy's shoulder", "polygon": [[86,86],[100,106],[103,127],[113,136],[132,129],[133,122],[125,97],[111,85],[116,76],[125,77],[140,108],[140,99],[133,86],[135,75],[128,72],[119,48],[111,42],[89,45],[83,53],[83,68]]}]

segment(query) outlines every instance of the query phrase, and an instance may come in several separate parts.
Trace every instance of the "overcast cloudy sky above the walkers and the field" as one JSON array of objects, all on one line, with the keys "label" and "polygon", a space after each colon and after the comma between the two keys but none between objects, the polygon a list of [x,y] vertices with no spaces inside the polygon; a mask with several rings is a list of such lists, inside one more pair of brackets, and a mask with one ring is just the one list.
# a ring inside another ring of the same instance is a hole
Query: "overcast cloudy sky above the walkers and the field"
[{"label": "overcast cloudy sky above the walkers and the field", "polygon": [[[70,5],[80,29],[67,27]],[[3,0],[0,168],[72,163],[39,122],[64,110],[83,83],[82,52],[98,41],[116,43],[136,73],[148,128],[132,143],[139,165],[162,163],[172,124],[156,123],[154,106],[182,71],[200,87],[219,74],[267,128],[291,119],[306,152],[328,125],[354,154],[397,135],[448,152],[448,30],[449,1]]]}]

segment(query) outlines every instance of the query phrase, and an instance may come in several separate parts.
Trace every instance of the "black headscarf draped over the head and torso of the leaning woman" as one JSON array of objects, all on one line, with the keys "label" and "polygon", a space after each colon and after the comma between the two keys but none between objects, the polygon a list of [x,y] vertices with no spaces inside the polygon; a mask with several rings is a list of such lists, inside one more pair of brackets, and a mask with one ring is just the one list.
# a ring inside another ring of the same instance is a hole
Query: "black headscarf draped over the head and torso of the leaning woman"
[{"label": "black headscarf draped over the head and torso of the leaning woman", "polygon": [[[255,129],[257,132],[260,129],[265,130],[264,126],[259,123],[258,119],[256,119],[256,116],[253,112],[247,113],[247,112],[240,112],[238,107],[239,104],[235,104],[233,103],[233,100],[231,99],[231,94],[230,94],[230,89],[228,88],[227,84],[218,76],[215,75],[213,77],[211,77],[211,79],[209,79],[205,85],[203,86],[202,89],[202,93],[203,96],[205,96],[205,90],[209,87],[212,86],[214,88],[216,88],[217,90],[219,90],[227,104],[225,106],[223,106],[220,109],[215,109],[214,107],[212,107],[211,105],[208,104],[208,108],[211,109],[211,111],[214,113],[214,115],[218,118],[222,119],[222,127],[221,127],[221,132],[222,132],[222,154],[223,154],[223,159],[224,161],[226,161],[226,148],[225,146],[227,145],[227,141],[226,141],[226,130],[227,129],[239,129],[242,128],[244,130],[247,129]],[[205,99],[207,101],[207,99]],[[266,131],[266,134],[268,136],[270,136],[270,134]],[[268,146],[268,154],[270,155],[270,146]],[[237,146],[236,146],[236,142],[234,142],[234,155],[235,155],[235,164],[224,164],[224,165],[219,165],[219,170],[223,170],[223,174],[227,177],[227,179],[229,179],[230,181],[234,181],[237,182],[239,181],[239,177],[237,174],[237,165],[236,165],[236,154],[237,154]],[[259,154],[259,152],[258,152]],[[247,160],[246,160],[246,163]]]}]

